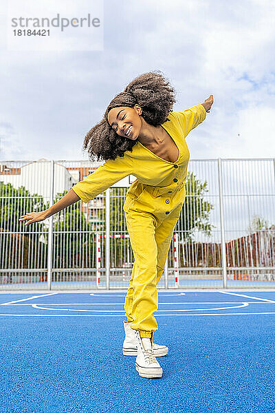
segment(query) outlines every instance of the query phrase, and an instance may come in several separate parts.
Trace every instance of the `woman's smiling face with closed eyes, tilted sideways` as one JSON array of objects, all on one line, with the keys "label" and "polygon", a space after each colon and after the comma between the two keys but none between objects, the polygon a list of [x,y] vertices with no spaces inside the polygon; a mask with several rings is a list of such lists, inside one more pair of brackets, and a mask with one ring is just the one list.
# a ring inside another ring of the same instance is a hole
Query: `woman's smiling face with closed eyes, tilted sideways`
[{"label": "woman's smiling face with closed eyes, tilted sideways", "polygon": [[142,120],[139,115],[141,111],[139,105],[113,107],[109,111],[107,120],[118,135],[135,140],[138,138],[142,127]]}]

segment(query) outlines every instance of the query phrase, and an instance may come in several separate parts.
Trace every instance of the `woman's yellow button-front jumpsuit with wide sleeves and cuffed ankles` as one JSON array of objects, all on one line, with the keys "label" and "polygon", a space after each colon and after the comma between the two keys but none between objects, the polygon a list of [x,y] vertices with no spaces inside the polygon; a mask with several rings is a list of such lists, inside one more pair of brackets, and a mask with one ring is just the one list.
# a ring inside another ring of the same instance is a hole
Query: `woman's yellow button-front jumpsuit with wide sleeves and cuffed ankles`
[{"label": "woman's yellow button-front jumpsuit with wide sleeves and cuffed ankles", "polygon": [[201,103],[183,112],[169,112],[162,127],[179,149],[175,162],[160,158],[137,140],[132,152],[107,160],[72,188],[87,203],[122,178],[130,174],[137,178],[123,206],[135,258],[124,310],[141,337],[151,337],[157,330],[153,315],[158,307],[157,283],[186,196],[190,153],[185,138],[205,118]]}]

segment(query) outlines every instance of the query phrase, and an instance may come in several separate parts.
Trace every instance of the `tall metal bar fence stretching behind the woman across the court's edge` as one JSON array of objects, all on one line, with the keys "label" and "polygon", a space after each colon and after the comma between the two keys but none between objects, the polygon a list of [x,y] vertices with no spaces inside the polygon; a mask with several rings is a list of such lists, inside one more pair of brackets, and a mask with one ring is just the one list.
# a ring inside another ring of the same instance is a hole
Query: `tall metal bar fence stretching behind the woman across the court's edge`
[{"label": "tall metal bar fence stretching behind the woman across the court's edge", "polygon": [[[127,288],[134,259],[122,207],[134,176],[43,222],[19,221],[50,207],[98,165],[0,163],[1,290]],[[158,287],[275,287],[274,158],[190,160]]]}]

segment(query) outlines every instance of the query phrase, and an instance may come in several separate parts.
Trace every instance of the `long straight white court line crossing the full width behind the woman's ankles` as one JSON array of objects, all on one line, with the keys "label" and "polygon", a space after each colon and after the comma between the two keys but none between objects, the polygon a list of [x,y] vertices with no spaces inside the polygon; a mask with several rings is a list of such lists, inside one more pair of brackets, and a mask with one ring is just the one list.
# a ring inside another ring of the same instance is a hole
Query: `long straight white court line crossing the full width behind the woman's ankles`
[{"label": "long straight white court line crossing the full width behind the woman's ankles", "polygon": [[[270,315],[275,313],[205,313],[205,314],[157,314],[156,317],[201,317],[204,315]],[[94,314],[0,314],[4,317],[124,317],[122,314],[94,315]]]}]

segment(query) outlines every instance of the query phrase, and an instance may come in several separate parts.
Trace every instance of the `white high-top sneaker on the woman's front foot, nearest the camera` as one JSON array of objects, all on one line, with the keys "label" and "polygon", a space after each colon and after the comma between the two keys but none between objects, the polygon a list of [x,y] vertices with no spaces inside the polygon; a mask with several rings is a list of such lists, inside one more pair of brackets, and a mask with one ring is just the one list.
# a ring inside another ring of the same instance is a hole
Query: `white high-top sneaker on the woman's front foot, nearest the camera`
[{"label": "white high-top sneaker on the woman's front foot, nearest the camera", "polygon": [[159,366],[159,362],[153,353],[153,337],[152,339],[141,338],[139,330],[134,331],[137,340],[135,370],[137,370],[138,374],[140,374],[140,377],[145,377],[146,379],[162,377],[162,368]]}]

